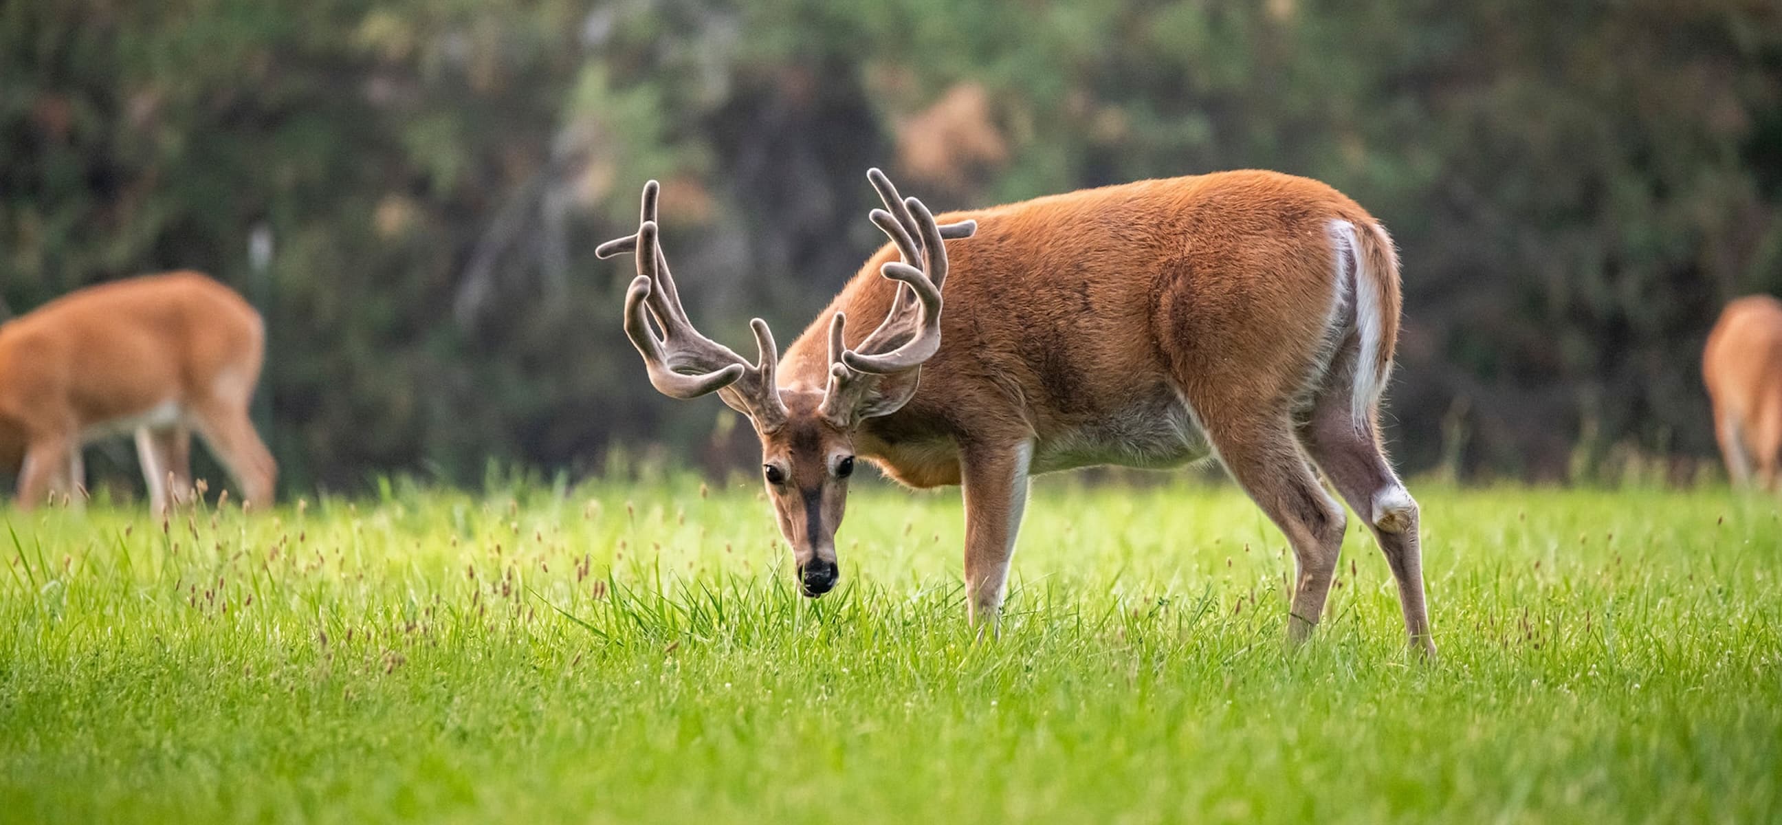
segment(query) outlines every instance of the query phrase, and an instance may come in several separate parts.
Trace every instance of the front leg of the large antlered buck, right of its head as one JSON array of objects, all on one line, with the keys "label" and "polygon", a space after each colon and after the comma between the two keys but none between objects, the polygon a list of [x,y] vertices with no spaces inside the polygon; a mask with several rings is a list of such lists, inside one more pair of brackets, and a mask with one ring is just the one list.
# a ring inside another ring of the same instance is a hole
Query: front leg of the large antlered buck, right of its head
[{"label": "front leg of the large antlered buck, right of its head", "polygon": [[960,486],[966,497],[966,606],[971,625],[996,625],[1009,560],[1026,510],[1026,474],[1034,442],[1001,442],[960,449]]}]

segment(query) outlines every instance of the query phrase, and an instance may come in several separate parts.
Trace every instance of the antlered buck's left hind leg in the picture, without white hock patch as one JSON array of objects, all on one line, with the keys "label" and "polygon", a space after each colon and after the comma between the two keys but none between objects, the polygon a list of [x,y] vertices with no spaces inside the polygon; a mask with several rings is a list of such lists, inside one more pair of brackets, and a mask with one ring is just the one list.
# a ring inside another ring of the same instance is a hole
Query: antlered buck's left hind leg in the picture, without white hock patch
[{"label": "antlered buck's left hind leg in the picture, without white hock patch", "polygon": [[1324,615],[1347,515],[1319,485],[1285,419],[1215,428],[1206,435],[1231,478],[1294,547],[1297,577],[1287,636],[1296,643],[1306,641]]}]

